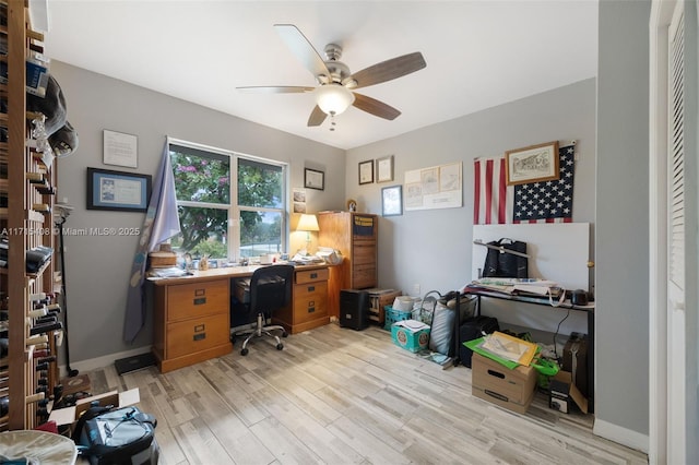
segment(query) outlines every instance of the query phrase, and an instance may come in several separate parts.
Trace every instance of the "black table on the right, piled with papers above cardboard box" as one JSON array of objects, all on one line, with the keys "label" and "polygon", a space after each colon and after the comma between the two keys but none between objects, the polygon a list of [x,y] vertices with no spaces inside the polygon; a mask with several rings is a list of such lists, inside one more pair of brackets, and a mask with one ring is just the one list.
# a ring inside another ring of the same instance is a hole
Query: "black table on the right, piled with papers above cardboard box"
[{"label": "black table on the right, piled with papers above cardboard box", "polygon": [[463,293],[470,294],[472,296],[476,296],[478,298],[476,314],[482,313],[481,311],[482,297],[500,299],[500,300],[510,300],[513,302],[532,303],[540,307],[546,307],[548,309],[574,310],[574,311],[585,312],[588,317],[588,385],[590,389],[588,393],[588,401],[589,401],[588,410],[590,413],[594,412],[594,303],[591,303],[588,306],[573,306],[569,299],[566,299],[558,307],[552,307],[548,301],[548,298],[516,296],[516,295],[497,293],[494,290],[486,290],[477,287],[466,287],[463,290]]}]

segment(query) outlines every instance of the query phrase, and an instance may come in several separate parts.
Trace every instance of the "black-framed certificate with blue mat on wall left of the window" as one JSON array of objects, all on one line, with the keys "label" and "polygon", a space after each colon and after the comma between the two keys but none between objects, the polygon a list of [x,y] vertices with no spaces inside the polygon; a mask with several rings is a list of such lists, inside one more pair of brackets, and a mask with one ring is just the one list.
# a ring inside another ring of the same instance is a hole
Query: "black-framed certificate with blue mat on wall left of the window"
[{"label": "black-framed certificate with blue mat on wall left of the window", "polygon": [[87,168],[87,210],[145,212],[151,175]]}]

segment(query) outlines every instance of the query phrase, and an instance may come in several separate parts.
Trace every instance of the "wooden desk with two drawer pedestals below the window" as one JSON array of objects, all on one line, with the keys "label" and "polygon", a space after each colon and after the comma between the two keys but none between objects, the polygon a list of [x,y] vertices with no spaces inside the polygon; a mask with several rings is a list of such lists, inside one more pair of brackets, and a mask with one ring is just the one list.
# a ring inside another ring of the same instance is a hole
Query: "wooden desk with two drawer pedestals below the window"
[{"label": "wooden desk with two drawer pedestals below the window", "polygon": [[[153,354],[162,372],[220,357],[230,343],[232,279],[252,276],[253,266],[196,271],[191,276],[149,278],[153,307]],[[274,315],[291,334],[330,322],[328,266],[294,272],[292,305]]]}]

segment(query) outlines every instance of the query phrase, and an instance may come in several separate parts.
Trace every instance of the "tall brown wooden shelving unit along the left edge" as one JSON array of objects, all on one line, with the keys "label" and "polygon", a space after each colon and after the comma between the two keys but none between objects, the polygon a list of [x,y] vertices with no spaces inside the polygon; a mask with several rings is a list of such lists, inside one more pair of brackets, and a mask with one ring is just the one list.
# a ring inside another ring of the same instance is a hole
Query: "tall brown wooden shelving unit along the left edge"
[{"label": "tall brown wooden shelving unit along the left edge", "polygon": [[[0,293],[8,310],[8,356],[0,359],[0,371],[7,373],[9,413],[0,418],[0,431],[32,429],[37,426],[38,404],[48,398],[58,382],[57,363],[50,368],[37,366],[36,350],[56,355],[55,332],[31,335],[36,319],[29,313],[34,303],[29,300],[47,289],[50,293],[52,264],[46,263],[38,272],[28,274],[26,252],[44,246],[54,248],[50,213],[32,211],[34,204],[47,204],[52,208],[51,195],[38,192],[28,182],[27,174],[43,172],[48,182],[56,186],[55,174],[32,156],[32,121],[26,112],[26,59],[29,50],[42,51],[42,34],[31,31],[26,2],[9,0],[0,2],[7,13],[7,27],[0,27],[0,36],[7,43],[8,80],[0,84],[0,99],[4,99],[7,114],[0,114],[0,127],[7,130],[7,143],[0,143],[0,164],[4,164],[0,193],[8,196],[8,207],[0,215],[0,230],[8,236],[8,266],[0,273]],[[33,116],[32,116],[33,117]],[[47,229],[48,228],[48,229]],[[46,380],[39,383],[39,378]],[[44,392],[44,391],[45,392]],[[0,393],[0,397],[3,393]],[[46,406],[42,407],[46,408]]]}]

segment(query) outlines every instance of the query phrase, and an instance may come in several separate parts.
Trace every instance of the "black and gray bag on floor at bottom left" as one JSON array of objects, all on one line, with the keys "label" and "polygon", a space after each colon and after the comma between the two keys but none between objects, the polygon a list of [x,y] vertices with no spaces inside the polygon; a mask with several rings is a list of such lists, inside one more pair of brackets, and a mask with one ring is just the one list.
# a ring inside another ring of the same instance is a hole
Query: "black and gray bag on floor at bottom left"
[{"label": "black and gray bag on floor at bottom left", "polygon": [[78,420],[72,439],[92,465],[157,464],[157,420],[138,407],[90,407]]}]

